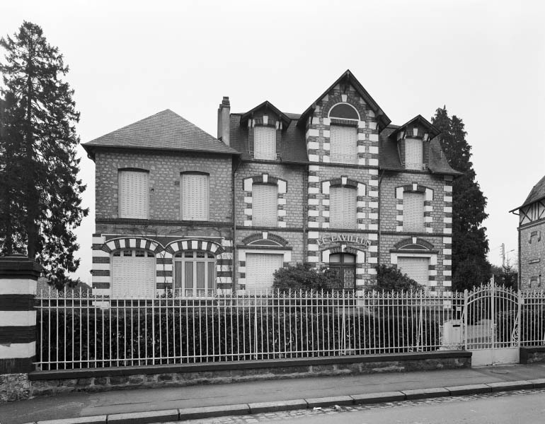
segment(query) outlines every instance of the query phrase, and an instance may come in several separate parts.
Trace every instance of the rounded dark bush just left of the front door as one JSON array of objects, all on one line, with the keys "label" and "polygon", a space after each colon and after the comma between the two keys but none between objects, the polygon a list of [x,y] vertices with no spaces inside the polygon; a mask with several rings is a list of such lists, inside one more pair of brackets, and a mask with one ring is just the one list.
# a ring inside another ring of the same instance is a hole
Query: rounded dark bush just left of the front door
[{"label": "rounded dark bush just left of the front door", "polygon": [[279,291],[288,290],[338,290],[343,284],[337,274],[329,269],[320,271],[312,268],[311,264],[298,263],[295,266],[288,265],[275,271],[275,281],[272,288]]}]

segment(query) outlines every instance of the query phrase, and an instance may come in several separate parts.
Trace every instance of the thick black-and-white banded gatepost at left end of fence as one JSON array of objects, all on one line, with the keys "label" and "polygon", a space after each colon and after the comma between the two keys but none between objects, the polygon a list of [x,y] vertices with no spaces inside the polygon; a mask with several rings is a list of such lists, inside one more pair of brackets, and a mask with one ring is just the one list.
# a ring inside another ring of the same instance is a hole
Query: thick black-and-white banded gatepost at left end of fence
[{"label": "thick black-and-white banded gatepost at left end of fence", "polygon": [[0,403],[30,396],[36,356],[34,297],[42,267],[21,254],[0,257]]}]

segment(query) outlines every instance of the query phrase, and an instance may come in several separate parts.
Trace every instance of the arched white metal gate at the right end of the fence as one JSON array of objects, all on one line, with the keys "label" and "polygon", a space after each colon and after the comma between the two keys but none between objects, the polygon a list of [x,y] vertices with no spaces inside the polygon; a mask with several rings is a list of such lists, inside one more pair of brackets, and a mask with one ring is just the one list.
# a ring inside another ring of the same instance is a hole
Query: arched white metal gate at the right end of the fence
[{"label": "arched white metal gate at the right end of the fence", "polygon": [[472,365],[519,362],[520,300],[517,292],[486,285],[464,292],[464,347]]}]

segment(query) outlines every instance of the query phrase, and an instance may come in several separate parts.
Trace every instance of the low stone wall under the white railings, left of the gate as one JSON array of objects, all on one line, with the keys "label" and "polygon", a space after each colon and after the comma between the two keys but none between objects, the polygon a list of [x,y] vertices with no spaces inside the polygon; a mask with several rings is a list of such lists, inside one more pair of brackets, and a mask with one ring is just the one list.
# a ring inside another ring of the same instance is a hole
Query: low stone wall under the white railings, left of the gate
[{"label": "low stone wall under the white railings, left of the gate", "polygon": [[443,351],[342,358],[301,358],[241,363],[40,371],[30,373],[29,377],[31,380],[30,396],[47,396],[70,391],[108,391],[195,384],[222,384],[258,379],[410,372],[469,367],[471,367],[470,352]]}]

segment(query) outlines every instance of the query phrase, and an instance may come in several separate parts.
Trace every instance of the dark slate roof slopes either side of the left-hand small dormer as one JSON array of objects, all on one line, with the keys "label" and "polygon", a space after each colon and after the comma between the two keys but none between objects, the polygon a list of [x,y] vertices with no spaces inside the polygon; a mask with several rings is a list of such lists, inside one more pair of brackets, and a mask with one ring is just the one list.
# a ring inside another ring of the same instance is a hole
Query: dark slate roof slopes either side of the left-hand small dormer
[{"label": "dark slate roof slopes either side of the left-hand small dormer", "polygon": [[[304,131],[297,126],[297,120],[301,116],[295,113],[284,113],[292,122],[287,129],[282,131],[282,148],[280,158],[282,163],[309,163],[306,156],[306,143]],[[243,160],[252,159],[248,147],[248,126],[241,125],[242,113],[231,113],[229,142],[231,147],[241,153]]]}]

